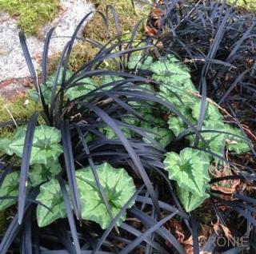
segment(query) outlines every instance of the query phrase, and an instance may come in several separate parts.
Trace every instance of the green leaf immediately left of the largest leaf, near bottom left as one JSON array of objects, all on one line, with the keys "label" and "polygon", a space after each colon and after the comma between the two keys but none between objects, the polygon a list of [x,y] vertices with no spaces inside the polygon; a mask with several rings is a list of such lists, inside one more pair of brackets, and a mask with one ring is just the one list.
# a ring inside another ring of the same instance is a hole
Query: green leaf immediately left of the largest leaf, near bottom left
[{"label": "green leaf immediately left of the largest leaf, near bottom left", "polygon": [[60,218],[66,218],[62,192],[56,179],[40,186],[40,192],[36,200],[40,203],[37,208],[37,220],[40,228],[46,227]]}]

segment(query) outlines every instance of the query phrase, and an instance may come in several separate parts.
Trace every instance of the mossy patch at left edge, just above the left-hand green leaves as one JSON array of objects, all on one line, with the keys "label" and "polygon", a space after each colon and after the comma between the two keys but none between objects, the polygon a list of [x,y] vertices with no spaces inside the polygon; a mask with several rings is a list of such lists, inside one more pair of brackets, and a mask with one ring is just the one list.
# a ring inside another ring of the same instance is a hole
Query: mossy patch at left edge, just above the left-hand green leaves
[{"label": "mossy patch at left edge, just above the left-hand green leaves", "polygon": [[[14,101],[6,101],[0,97],[0,105],[0,122],[12,121],[13,118],[15,121],[26,121],[34,111],[42,109],[38,102],[30,100],[28,96],[18,97]],[[12,127],[2,128],[0,129],[0,137],[12,137],[13,131],[14,128]]]}]

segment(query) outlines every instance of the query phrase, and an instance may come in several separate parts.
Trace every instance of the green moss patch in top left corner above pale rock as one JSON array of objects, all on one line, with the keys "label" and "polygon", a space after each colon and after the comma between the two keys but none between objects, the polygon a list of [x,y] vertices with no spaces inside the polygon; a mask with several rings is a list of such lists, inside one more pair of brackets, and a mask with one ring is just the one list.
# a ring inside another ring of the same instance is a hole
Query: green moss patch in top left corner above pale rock
[{"label": "green moss patch in top left corner above pale rock", "polygon": [[59,0],[0,0],[0,10],[18,18],[18,26],[26,34],[41,37],[40,28],[56,17],[60,3]]}]

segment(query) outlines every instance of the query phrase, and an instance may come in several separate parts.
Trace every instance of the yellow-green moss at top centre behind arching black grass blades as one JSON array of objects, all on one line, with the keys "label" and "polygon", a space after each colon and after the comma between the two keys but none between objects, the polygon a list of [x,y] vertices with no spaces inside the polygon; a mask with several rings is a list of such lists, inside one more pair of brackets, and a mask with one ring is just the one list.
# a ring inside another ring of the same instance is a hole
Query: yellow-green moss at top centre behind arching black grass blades
[{"label": "yellow-green moss at top centre behind arching black grass blades", "polygon": [[[136,10],[136,13],[134,13],[134,7],[131,1],[126,0],[91,0],[90,2],[94,3],[94,5],[97,7],[97,10],[102,12],[103,14],[106,13],[106,6],[114,6],[114,9],[116,10],[116,13],[118,15],[118,22],[122,30],[122,33],[130,33],[131,30],[134,28],[134,25],[138,22],[138,20],[140,18],[146,17],[150,11],[149,5],[143,5],[142,8],[140,8],[140,10]],[[109,35],[110,38],[113,38],[115,36],[115,27],[114,19],[111,12],[109,12],[108,18],[110,26]],[[142,34],[143,27],[141,26],[140,33],[138,33],[138,37],[136,39],[142,38]],[[102,44],[106,43],[109,40],[109,38],[106,36],[105,23],[100,14],[95,13],[94,16],[90,19],[90,21],[86,23],[83,36],[85,38],[94,39]],[[129,40],[130,35],[124,35],[123,38]],[[69,68],[73,71],[77,70],[82,64],[89,62],[91,59],[93,59],[97,52],[98,48],[95,48],[89,42],[78,42],[78,44],[74,46],[71,52]],[[58,65],[60,55],[61,54],[58,53],[51,57],[49,73],[54,73]],[[111,61],[107,62],[106,67],[108,69],[116,69],[116,65],[114,64],[114,62]]]}]

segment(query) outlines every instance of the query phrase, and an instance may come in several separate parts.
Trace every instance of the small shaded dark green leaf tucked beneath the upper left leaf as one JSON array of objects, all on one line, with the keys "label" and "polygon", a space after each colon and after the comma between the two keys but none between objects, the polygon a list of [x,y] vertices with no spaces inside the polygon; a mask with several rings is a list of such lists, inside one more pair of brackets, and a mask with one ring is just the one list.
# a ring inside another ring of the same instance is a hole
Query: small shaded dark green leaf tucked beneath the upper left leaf
[{"label": "small shaded dark green leaf tucked beneath the upper left leaf", "polygon": [[31,185],[36,187],[42,182],[48,181],[54,178],[62,170],[58,161],[48,161],[46,165],[32,165],[29,170],[29,179]]}]

